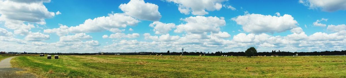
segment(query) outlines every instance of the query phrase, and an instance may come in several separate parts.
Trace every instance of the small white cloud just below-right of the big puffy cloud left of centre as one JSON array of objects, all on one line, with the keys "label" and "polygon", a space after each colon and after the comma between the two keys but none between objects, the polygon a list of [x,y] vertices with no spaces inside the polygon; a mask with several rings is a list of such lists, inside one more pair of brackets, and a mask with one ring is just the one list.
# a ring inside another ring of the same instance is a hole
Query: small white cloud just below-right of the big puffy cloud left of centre
[{"label": "small white cloud just below-right of the big puffy cloud left of centre", "polygon": [[149,25],[150,27],[154,28],[155,34],[167,34],[169,31],[171,31],[173,28],[175,28],[174,23],[162,23],[155,21]]}]

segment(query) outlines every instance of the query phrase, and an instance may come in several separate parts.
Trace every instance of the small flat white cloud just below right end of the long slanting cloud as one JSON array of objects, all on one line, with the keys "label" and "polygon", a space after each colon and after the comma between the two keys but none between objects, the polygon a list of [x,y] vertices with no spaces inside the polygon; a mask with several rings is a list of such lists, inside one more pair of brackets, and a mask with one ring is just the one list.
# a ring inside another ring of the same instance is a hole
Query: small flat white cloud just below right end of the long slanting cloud
[{"label": "small flat white cloud just below right end of the long slanting cloud", "polygon": [[115,34],[110,34],[109,38],[137,38],[139,37],[138,33],[133,33],[133,34],[127,34],[125,33],[115,33]]}]

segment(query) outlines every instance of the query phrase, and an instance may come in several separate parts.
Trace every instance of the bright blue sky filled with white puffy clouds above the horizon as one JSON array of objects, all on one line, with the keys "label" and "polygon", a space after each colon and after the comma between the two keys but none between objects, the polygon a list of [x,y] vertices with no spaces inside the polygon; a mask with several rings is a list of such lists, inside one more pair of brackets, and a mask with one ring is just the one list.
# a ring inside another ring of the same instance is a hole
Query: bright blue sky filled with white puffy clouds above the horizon
[{"label": "bright blue sky filled with white puffy clouds above the horizon", "polygon": [[345,0],[0,0],[0,51],[341,51],[345,13]]}]

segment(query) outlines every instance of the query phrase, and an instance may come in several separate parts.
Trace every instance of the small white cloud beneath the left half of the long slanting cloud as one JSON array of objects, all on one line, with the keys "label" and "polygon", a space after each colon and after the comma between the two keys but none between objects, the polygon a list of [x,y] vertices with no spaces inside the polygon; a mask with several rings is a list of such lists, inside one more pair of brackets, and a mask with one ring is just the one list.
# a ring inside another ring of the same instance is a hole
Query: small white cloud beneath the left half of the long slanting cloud
[{"label": "small white cloud beneath the left half of the long slanting cloud", "polygon": [[85,33],[78,33],[74,35],[61,36],[60,42],[74,42],[89,39],[92,39],[90,35],[86,35]]}]

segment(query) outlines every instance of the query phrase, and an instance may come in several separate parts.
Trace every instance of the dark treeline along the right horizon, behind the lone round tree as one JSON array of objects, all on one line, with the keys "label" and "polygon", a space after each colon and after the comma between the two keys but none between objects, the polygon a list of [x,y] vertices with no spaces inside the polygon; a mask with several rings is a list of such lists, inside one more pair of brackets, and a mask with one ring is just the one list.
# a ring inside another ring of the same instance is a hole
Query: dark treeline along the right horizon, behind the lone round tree
[{"label": "dark treeline along the right horizon, behind the lone round tree", "polygon": [[[164,54],[164,55],[180,55],[181,52],[171,52],[171,53],[157,53],[157,54]],[[346,55],[346,51],[324,51],[324,52],[284,52],[284,51],[272,51],[272,52],[258,52],[256,54],[259,56],[270,56],[270,55],[279,55],[279,56],[293,56],[295,54],[298,54],[299,56],[306,56],[306,55]],[[183,52],[183,55],[204,55],[202,52]],[[245,56],[245,52],[213,52],[213,53],[206,53],[205,55],[233,55],[233,56]]]}]

